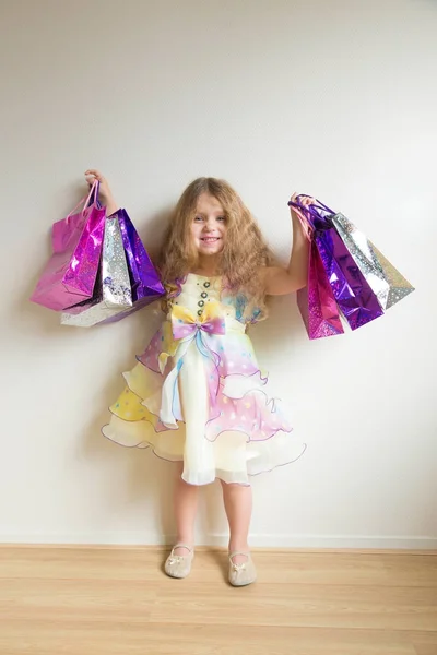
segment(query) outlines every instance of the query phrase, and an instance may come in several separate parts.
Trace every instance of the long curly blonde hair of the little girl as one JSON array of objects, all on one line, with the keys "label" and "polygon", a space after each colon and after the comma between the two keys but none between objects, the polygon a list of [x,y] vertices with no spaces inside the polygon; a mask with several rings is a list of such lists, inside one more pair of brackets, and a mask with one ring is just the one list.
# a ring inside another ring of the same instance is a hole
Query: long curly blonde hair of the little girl
[{"label": "long curly blonde hair of the little girl", "polygon": [[246,320],[250,320],[255,311],[259,321],[267,317],[260,267],[269,265],[272,255],[253,216],[225,180],[196,179],[175,207],[157,262],[167,298],[179,293],[187,274],[198,265],[198,252],[190,230],[202,193],[209,193],[220,202],[226,218],[226,238],[217,274],[223,276],[224,287],[231,296],[245,297]]}]

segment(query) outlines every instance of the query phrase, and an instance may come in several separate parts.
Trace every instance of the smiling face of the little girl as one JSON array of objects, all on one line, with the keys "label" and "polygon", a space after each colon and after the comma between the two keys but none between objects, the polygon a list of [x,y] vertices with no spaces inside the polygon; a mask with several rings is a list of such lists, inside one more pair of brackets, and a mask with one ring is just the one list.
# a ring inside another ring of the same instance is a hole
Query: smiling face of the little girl
[{"label": "smiling face of the little girl", "polygon": [[198,198],[191,236],[200,257],[217,255],[224,248],[226,217],[214,195],[201,193]]}]

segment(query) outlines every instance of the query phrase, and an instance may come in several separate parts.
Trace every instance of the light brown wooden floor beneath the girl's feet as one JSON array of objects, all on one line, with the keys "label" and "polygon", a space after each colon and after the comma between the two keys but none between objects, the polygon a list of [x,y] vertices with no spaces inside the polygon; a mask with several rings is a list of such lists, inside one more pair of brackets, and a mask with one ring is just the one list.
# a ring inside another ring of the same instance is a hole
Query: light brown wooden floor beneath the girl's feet
[{"label": "light brown wooden floor beneath the girl's feet", "polygon": [[437,655],[437,555],[0,547],[1,655]]}]

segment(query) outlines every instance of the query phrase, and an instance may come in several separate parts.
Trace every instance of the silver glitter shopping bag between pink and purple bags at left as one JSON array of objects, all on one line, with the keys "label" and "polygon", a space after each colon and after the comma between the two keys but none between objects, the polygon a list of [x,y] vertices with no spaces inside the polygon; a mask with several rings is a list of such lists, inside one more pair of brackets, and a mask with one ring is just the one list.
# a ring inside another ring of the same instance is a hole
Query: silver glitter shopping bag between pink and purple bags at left
[{"label": "silver glitter shopping bag between pink and purple bags at left", "polygon": [[129,269],[118,214],[105,221],[101,269],[91,301],[70,307],[61,317],[62,325],[91,327],[132,307]]}]

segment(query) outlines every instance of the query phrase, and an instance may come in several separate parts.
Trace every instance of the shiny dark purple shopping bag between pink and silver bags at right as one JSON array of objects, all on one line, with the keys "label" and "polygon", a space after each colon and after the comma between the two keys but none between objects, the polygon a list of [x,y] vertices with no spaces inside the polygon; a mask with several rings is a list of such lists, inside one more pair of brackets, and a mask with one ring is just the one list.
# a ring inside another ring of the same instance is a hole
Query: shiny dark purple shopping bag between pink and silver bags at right
[{"label": "shiny dark purple shopping bag between pink and silver bags at right", "polygon": [[383,310],[376,294],[335,229],[332,221],[335,213],[318,201],[305,206],[299,203],[299,196],[295,203],[288,204],[298,207],[311,226],[312,239],[333,297],[351,329],[356,330],[381,317]]}]

